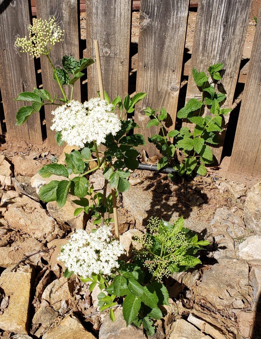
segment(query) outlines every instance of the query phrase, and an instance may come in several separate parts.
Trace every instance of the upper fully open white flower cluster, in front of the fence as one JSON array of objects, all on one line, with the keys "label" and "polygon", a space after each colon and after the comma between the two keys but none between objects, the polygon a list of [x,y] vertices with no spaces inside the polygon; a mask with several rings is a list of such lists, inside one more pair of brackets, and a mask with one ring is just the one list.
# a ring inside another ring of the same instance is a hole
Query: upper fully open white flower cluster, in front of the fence
[{"label": "upper fully open white flower cluster, in front of the fence", "polygon": [[113,113],[113,106],[100,98],[93,98],[81,104],[70,101],[52,112],[52,130],[61,133],[62,140],[71,146],[84,147],[95,141],[98,145],[106,141],[108,134],[116,135],[121,122]]}]

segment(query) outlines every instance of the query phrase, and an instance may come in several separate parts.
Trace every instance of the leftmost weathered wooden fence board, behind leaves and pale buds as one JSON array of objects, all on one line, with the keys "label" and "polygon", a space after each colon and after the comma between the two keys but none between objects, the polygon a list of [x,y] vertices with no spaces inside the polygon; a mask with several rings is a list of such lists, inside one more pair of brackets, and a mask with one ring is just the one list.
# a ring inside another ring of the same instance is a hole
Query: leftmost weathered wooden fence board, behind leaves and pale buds
[{"label": "leftmost weathered wooden fence board, behind leaves and pale buds", "polygon": [[17,37],[28,36],[29,6],[26,1],[1,1],[0,4],[0,86],[5,122],[9,137],[41,142],[39,114],[16,126],[16,112],[25,103],[14,101],[20,92],[33,91],[36,87],[34,60],[27,53],[20,53],[14,43]]}]

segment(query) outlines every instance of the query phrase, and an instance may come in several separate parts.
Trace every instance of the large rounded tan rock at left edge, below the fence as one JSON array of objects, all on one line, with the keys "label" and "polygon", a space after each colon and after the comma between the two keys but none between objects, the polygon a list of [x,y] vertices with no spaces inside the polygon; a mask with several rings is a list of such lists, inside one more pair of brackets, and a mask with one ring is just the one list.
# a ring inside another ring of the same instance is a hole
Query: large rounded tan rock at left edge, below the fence
[{"label": "large rounded tan rock at left edge, below the fence", "polygon": [[39,202],[16,191],[8,191],[2,196],[0,212],[12,228],[36,239],[43,239],[58,229],[55,220],[47,215]]}]

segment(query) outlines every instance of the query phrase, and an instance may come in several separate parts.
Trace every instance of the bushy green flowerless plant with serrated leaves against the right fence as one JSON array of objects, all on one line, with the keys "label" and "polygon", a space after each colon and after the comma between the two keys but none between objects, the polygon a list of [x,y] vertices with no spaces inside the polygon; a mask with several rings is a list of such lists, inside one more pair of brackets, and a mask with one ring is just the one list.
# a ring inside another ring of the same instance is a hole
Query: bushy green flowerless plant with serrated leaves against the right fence
[{"label": "bushy green flowerless plant with serrated leaves against the right fence", "polygon": [[[185,173],[192,175],[206,175],[207,169],[205,164],[213,162],[213,154],[209,145],[218,145],[217,132],[222,132],[222,117],[231,112],[230,108],[221,108],[221,104],[226,99],[225,94],[217,93],[214,85],[222,79],[220,71],[224,64],[217,63],[208,67],[207,76],[205,72],[198,72],[193,68],[193,79],[202,92],[201,100],[192,98],[185,107],[180,109],[177,117],[187,119],[195,124],[194,129],[189,130],[188,127],[182,127],[179,131],[174,129],[168,133],[165,132],[163,121],[167,119],[165,108],[161,109],[160,114],[147,107],[145,114],[151,118],[147,127],[160,126],[161,134],[155,134],[148,138],[149,142],[156,145],[163,155],[157,164],[157,168],[166,167],[170,160],[175,157],[177,150],[183,152],[182,162],[175,159],[174,169],[180,176]],[[209,108],[209,113],[203,116],[205,107]],[[174,138],[173,143],[171,142]]]}]

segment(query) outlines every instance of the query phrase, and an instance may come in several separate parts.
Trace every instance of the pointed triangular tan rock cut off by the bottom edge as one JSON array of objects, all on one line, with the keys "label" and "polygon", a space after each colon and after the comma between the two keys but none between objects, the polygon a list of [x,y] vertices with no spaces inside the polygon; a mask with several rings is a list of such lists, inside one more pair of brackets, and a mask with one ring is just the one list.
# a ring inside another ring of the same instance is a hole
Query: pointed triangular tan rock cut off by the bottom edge
[{"label": "pointed triangular tan rock cut off by the bottom edge", "polygon": [[95,339],[80,323],[78,318],[67,316],[59,325],[46,332],[42,339]]}]

